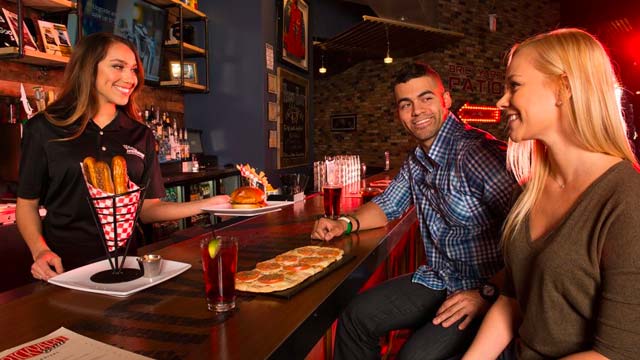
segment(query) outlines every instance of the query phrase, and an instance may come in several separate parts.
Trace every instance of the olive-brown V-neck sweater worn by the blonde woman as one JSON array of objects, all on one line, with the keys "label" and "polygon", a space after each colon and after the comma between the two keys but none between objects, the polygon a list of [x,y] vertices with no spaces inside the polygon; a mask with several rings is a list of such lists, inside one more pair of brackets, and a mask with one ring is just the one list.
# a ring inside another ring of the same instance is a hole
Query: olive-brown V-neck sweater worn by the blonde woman
[{"label": "olive-brown V-neck sweater worn by the blonde woman", "polygon": [[612,166],[535,242],[523,225],[505,248],[504,294],[523,316],[518,358],[640,359],[640,174]]}]

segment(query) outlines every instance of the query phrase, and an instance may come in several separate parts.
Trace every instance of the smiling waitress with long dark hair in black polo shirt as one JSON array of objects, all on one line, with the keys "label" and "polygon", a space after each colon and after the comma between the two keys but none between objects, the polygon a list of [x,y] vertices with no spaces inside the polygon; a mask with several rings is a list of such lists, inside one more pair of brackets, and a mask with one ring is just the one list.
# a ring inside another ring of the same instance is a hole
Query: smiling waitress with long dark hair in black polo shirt
[{"label": "smiling waitress with long dark hair in black polo shirt", "polygon": [[[33,256],[34,278],[47,280],[105,255],[80,166],[87,156],[107,163],[125,157],[130,180],[147,186],[140,210],[145,223],[181,219],[229,201],[226,195],[160,200],[165,191],[154,137],[135,101],[143,74],[131,42],[109,33],[89,35],[73,51],[58,99],[25,125],[16,222]],[[43,221],[39,205],[47,209]]]}]

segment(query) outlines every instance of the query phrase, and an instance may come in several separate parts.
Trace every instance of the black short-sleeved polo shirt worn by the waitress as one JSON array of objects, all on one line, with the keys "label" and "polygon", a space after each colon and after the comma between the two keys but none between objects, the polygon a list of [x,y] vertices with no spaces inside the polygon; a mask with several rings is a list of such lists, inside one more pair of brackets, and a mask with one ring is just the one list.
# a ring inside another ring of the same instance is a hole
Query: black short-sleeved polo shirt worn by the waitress
[{"label": "black short-sleeved polo shirt worn by the waitress", "polygon": [[115,155],[127,160],[129,178],[138,186],[149,185],[145,198],[165,195],[153,134],[122,111],[104,129],[89,121],[82,135],[69,137],[77,125],[58,127],[42,114],[24,126],[18,197],[40,199],[47,209],[43,234],[47,244],[69,270],[104,257],[82,176],[82,160],[93,156],[111,163]]}]

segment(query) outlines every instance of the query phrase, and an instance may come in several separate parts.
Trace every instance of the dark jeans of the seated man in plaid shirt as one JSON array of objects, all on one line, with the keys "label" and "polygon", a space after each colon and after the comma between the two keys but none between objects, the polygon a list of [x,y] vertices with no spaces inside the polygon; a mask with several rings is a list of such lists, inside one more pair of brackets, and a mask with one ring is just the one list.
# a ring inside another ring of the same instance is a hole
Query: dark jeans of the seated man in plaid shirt
[{"label": "dark jeans of the seated man in plaid shirt", "polygon": [[455,359],[464,354],[482,319],[475,318],[464,330],[458,330],[462,320],[448,328],[433,325],[447,293],[415,284],[412,276],[388,280],[349,303],[338,321],[335,359],[379,359],[380,337],[396,329],[412,330],[398,359]]}]

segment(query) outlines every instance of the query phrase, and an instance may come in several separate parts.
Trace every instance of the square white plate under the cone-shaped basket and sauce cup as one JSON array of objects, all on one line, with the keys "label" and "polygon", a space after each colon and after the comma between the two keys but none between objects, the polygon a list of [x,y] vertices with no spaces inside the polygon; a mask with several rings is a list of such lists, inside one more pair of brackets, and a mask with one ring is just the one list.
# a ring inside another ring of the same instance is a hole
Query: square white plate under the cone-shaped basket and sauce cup
[{"label": "square white plate under the cone-shaped basket and sauce cup", "polygon": [[[124,262],[124,267],[140,269],[135,256],[127,256],[127,259]],[[69,289],[122,297],[129,296],[140,290],[158,285],[163,281],[169,280],[172,277],[185,272],[190,267],[191,264],[163,259],[162,272],[160,275],[152,278],[139,277],[135,280],[115,284],[100,284],[91,281],[90,278],[93,274],[111,268],[109,266],[109,260],[105,259],[54,276],[49,279],[49,282]]]}]

